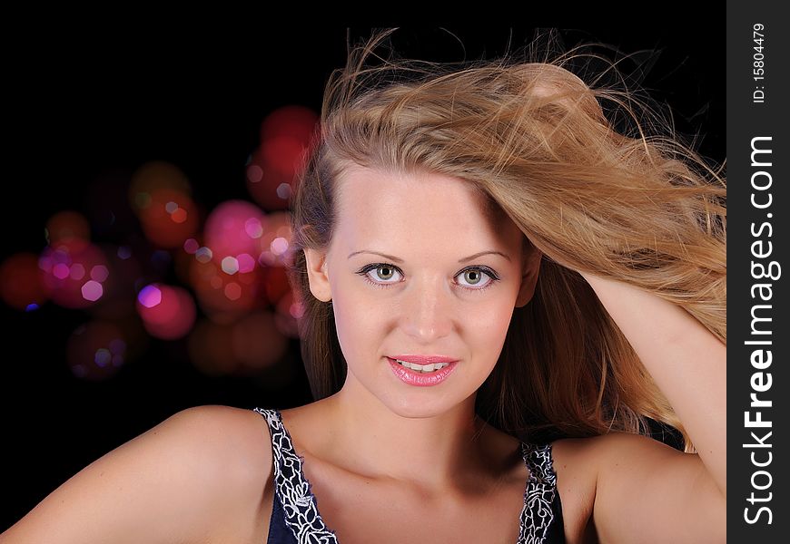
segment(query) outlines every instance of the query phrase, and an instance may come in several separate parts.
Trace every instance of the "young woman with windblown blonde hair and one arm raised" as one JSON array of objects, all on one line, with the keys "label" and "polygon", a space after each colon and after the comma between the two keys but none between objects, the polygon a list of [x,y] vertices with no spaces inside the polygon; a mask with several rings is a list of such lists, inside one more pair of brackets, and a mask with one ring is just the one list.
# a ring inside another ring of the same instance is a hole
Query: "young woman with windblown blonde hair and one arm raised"
[{"label": "young woman with windblown blonde hair and one arm raised", "polygon": [[366,66],[390,32],[293,200],[317,400],[177,413],[0,542],[725,541],[725,181],[563,59]]}]

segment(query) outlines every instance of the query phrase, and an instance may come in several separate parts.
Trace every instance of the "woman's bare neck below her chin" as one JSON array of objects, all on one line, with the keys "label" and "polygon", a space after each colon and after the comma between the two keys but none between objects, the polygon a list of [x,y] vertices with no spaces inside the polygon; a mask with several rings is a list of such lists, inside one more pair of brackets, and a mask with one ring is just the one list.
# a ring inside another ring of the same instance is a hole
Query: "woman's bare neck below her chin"
[{"label": "woman's bare neck below her chin", "polygon": [[346,445],[337,451],[350,456],[343,464],[370,477],[440,490],[458,485],[460,475],[480,462],[485,423],[475,416],[475,396],[439,413],[413,405],[396,413],[349,374],[325,401],[335,422],[331,435]]}]

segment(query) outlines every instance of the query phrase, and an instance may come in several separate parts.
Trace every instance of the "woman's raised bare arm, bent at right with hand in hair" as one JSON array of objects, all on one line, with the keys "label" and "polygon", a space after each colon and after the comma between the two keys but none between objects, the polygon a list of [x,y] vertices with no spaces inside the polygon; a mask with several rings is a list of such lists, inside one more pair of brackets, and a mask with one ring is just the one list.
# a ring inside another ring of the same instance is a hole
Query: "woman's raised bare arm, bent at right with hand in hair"
[{"label": "woman's raised bare arm, bent at right with hand in hair", "polygon": [[[679,306],[622,282],[582,276],[667,396],[698,452],[676,452],[620,433],[601,441],[606,445],[600,449],[595,521],[622,525],[623,535],[632,538],[625,541],[637,541],[640,530],[639,541],[645,541],[648,527],[658,531],[652,537],[657,541],[677,541],[684,532],[706,541],[716,534],[710,527],[705,532],[706,525],[725,523],[726,345]],[[681,520],[698,528],[678,527]],[[614,526],[605,532],[618,533]]]}]

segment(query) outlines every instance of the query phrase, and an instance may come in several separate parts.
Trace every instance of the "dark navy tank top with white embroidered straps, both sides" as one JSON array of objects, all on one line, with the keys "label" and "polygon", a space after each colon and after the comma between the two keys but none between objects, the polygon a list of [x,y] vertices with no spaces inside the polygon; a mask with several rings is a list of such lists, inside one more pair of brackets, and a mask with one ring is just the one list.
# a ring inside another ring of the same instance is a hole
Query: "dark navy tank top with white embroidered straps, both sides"
[{"label": "dark navy tank top with white embroidered straps, both sides", "polygon": [[[268,544],[341,544],[335,531],[321,519],[310,481],[302,471],[303,458],[293,449],[291,434],[276,409],[254,408],[269,426],[274,461],[274,502]],[[516,544],[564,543],[562,504],[557,474],[552,466],[551,444],[521,442],[529,469],[524,507]]]}]

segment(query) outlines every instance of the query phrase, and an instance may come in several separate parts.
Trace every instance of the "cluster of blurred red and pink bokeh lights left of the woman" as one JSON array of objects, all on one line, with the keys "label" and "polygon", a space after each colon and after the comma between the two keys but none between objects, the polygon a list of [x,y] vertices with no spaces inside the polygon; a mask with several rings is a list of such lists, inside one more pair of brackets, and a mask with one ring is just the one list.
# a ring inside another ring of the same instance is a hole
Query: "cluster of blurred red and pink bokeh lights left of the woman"
[{"label": "cluster of blurred red and pink bokeh lights left of the woman", "polygon": [[317,114],[299,105],[269,114],[238,181],[251,199],[209,209],[168,160],[97,174],[85,215],[55,212],[39,255],[5,258],[0,297],[20,311],[48,301],[85,311],[66,346],[80,379],[113,376],[150,338],[183,340],[202,374],[285,379],[292,373],[278,364],[302,313],[284,268],[293,257],[288,208],[317,128]]}]

